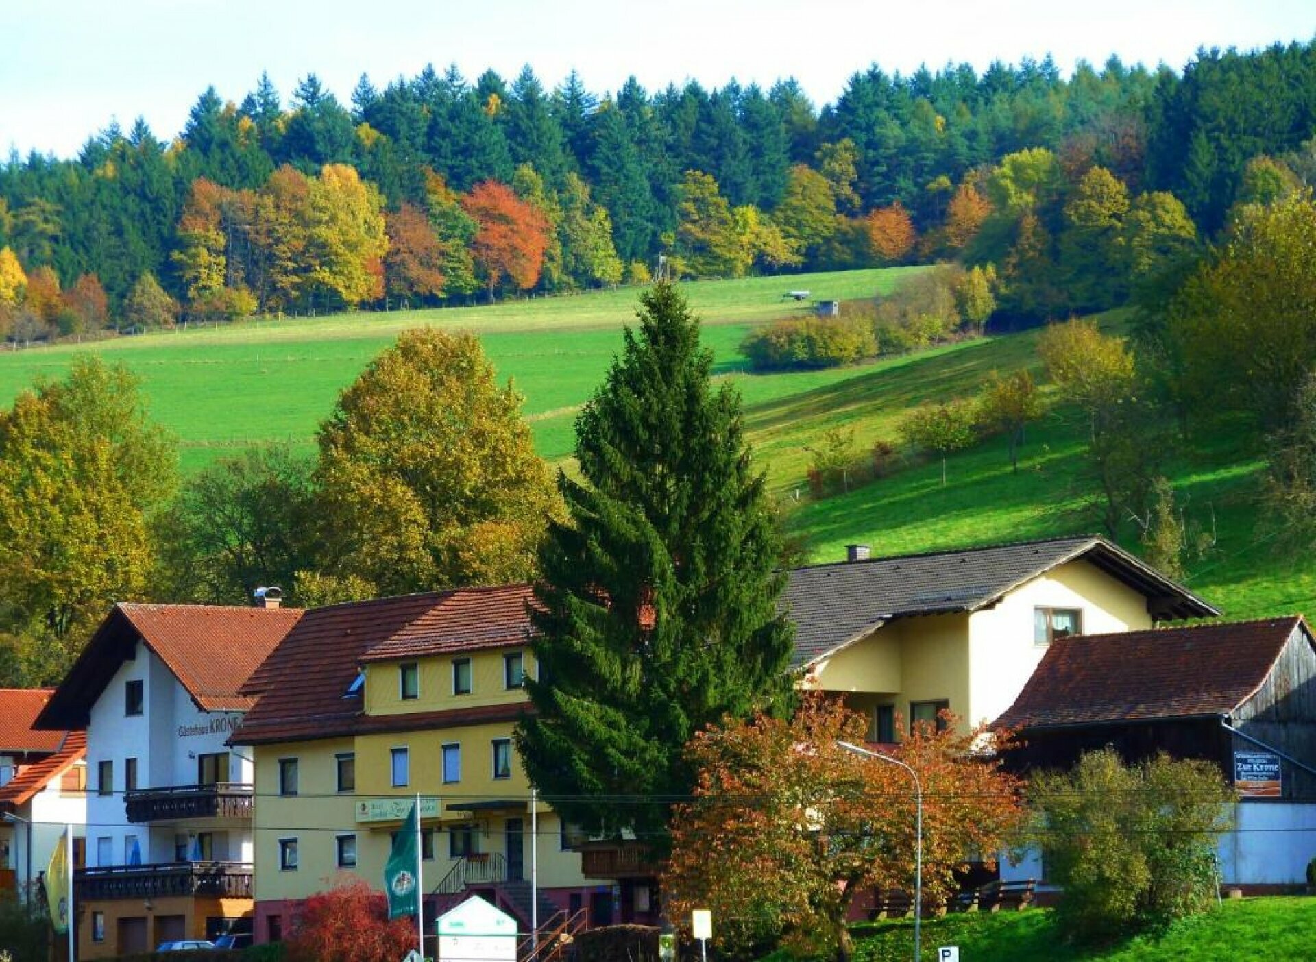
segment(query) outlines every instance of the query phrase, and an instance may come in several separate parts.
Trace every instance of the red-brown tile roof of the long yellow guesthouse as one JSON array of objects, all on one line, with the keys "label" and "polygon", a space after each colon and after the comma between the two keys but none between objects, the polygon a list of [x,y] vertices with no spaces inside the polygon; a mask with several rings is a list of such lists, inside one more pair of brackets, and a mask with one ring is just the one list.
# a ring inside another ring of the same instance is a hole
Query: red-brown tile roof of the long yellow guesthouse
[{"label": "red-brown tile roof of the long yellow guesthouse", "polygon": [[[401,730],[412,724],[458,724],[455,715],[449,717],[445,712],[367,719],[361,713],[359,692],[347,696],[347,690],[366,661],[521,642],[529,632],[525,611],[529,599],[529,586],[515,584],[311,609],[243,686],[243,694],[259,699],[230,742],[262,745],[358,730]],[[511,719],[521,709],[521,705],[495,705],[490,711],[499,719]],[[475,709],[462,711],[470,717]]]}]

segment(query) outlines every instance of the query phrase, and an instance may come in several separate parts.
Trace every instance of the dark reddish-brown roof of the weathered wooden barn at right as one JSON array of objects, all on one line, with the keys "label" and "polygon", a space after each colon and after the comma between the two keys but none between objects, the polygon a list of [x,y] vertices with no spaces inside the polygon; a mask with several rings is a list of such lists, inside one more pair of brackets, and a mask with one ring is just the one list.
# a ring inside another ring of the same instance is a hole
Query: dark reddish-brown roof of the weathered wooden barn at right
[{"label": "dark reddish-brown roof of the weathered wooden barn at right", "polygon": [[1299,616],[1062,638],[1000,728],[1057,728],[1228,715],[1270,674]]}]

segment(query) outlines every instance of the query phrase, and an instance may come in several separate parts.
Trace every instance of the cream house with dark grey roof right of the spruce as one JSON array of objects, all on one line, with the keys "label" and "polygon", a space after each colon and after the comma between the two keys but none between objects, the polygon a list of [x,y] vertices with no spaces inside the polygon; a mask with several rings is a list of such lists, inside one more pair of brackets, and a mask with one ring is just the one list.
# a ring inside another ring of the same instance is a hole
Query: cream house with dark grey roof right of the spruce
[{"label": "cream house with dark grey roof right of the spruce", "polygon": [[966,728],[991,721],[1054,638],[1220,613],[1099,537],[850,555],[791,571],[784,603],[803,687],[844,692],[875,742],[941,709]]}]

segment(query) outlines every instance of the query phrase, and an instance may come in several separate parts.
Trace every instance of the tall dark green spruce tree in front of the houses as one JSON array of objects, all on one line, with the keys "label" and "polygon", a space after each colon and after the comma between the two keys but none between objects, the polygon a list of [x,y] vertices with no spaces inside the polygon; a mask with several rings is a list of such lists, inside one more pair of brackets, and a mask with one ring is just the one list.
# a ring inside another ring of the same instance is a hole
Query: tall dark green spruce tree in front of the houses
[{"label": "tall dark green spruce tree in front of the houses", "polygon": [[712,355],[672,286],[641,305],[576,420],[582,479],[558,475],[570,519],[541,549],[540,672],[517,745],[566,820],[662,848],[670,803],[694,784],[691,736],[788,709],[792,632],[740,397],[709,384]]}]

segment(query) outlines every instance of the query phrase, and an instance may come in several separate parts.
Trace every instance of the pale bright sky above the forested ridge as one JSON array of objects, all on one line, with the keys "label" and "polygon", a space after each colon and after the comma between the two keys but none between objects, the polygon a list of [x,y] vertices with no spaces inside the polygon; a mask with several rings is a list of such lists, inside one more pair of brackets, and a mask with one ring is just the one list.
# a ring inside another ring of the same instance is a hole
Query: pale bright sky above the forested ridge
[{"label": "pale bright sky above the forested ridge", "polygon": [[307,74],[346,105],[362,74],[383,87],[433,63],[508,80],[529,64],[549,88],[574,68],[594,93],[795,78],[822,105],[874,63],[1182,70],[1203,46],[1313,37],[1313,0],[0,0],[0,157],[72,157],[138,116],[170,139],[207,87],[241,101],[262,71],[284,104]]}]

